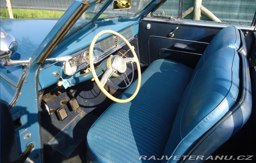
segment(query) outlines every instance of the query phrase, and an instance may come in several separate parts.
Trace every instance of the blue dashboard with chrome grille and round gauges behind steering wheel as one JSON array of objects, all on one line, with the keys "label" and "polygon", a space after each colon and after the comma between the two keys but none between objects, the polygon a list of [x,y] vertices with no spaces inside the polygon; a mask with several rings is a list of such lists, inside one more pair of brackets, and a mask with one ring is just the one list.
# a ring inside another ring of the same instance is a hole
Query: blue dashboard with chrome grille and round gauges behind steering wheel
[{"label": "blue dashboard with chrome grille and round gauges behind steering wheel", "polygon": [[[101,30],[100,29],[101,28],[97,30],[97,33],[104,30],[104,29],[101,29]],[[130,42],[134,39],[134,36],[138,33],[136,29],[138,29],[138,24],[135,24],[135,25],[133,24],[119,31],[118,33],[124,36]],[[92,40],[92,38],[90,39]],[[114,35],[108,36],[103,39],[99,38],[98,40],[99,41],[95,43],[94,51],[93,51],[94,57],[95,57],[94,63],[96,64],[101,63],[113,52],[116,52],[117,50],[121,49],[124,45],[126,45],[126,43],[122,39]],[[38,87],[39,90],[47,88],[53,85],[54,83],[57,83],[58,79],[56,76],[54,76],[55,72],[58,72],[60,76],[68,80],[70,84],[73,78],[77,78],[81,74],[83,74],[84,72],[81,73],[81,71],[88,69],[89,67],[90,42],[91,41],[88,41],[86,47],[81,48],[80,50],[69,54],[70,56],[72,56],[72,60],[69,62],[68,66],[72,68],[72,72],[65,70],[65,67],[67,65],[64,64],[64,62],[52,61],[52,62],[46,62],[45,64],[43,64],[39,72],[39,87]],[[61,55],[58,55],[58,56],[61,56]],[[47,76],[47,78],[45,78],[45,76]]]}]

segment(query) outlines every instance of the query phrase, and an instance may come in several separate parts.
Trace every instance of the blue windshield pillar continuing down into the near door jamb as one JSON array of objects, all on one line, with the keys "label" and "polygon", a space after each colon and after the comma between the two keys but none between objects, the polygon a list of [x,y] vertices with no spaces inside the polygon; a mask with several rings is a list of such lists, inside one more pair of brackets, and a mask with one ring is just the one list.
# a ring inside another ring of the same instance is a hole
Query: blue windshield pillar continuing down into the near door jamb
[{"label": "blue windshield pillar continuing down into the near door jamb", "polygon": [[[10,109],[11,113],[15,113],[17,111],[22,111],[24,113],[23,119],[24,123],[27,125],[27,130],[23,133],[20,133],[16,136],[18,145],[20,146],[19,154],[24,152],[27,148],[27,145],[30,142],[34,143],[34,148],[31,151],[30,157],[33,162],[39,163],[42,162],[42,143],[41,143],[41,134],[39,130],[39,101],[37,97],[38,92],[38,80],[37,73],[40,65],[37,64],[37,60],[39,59],[42,52],[49,46],[49,43],[55,38],[57,32],[63,27],[67,19],[74,13],[76,8],[81,5],[80,1],[74,1],[73,4],[69,7],[69,10],[66,11],[62,18],[55,24],[53,29],[49,32],[46,38],[42,41],[39,47],[32,55],[30,68],[27,69],[26,81],[23,83],[21,88],[21,95],[19,95],[18,100],[14,107]],[[24,140],[23,137],[27,134],[31,133],[30,138]],[[38,155],[38,158],[34,158],[35,155]]]}]

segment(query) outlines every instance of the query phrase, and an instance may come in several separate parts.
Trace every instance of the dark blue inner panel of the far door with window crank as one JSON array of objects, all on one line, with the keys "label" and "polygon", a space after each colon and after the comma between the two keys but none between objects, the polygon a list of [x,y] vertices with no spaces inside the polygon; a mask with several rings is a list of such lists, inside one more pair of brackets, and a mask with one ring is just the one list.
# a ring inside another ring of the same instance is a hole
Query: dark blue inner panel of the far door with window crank
[{"label": "dark blue inner panel of the far door with window crank", "polygon": [[[147,29],[148,24],[150,24],[150,29]],[[231,24],[171,21],[168,18],[154,17],[143,18],[139,23],[138,34],[140,62],[149,65],[156,59],[169,58],[194,68],[214,35],[229,25]],[[247,52],[250,53],[254,40],[254,27],[247,25],[234,26],[241,29],[243,33],[248,32],[245,35],[245,40]],[[177,27],[174,36],[170,37],[170,32]],[[195,48],[196,51],[185,51],[185,53],[184,50],[174,49],[175,43],[188,45]]]}]

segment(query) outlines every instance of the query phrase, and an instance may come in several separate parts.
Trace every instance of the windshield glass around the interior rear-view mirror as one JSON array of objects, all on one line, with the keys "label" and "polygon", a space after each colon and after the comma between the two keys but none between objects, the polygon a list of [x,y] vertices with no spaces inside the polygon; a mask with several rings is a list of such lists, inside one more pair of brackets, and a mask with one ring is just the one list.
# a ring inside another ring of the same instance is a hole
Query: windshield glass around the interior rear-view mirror
[{"label": "windshield glass around the interior rear-view mirror", "polygon": [[[127,10],[113,10],[113,2],[106,8],[99,18],[136,16],[144,10],[144,8],[152,0],[131,0],[131,8]],[[128,1],[127,1],[128,2]],[[123,3],[123,2],[122,2]]]}]

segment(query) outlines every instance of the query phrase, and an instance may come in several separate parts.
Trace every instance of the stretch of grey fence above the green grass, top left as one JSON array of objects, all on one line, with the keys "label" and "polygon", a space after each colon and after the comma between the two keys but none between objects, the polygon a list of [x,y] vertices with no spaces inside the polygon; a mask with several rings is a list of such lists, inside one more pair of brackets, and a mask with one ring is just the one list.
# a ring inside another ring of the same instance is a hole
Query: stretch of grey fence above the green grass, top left
[{"label": "stretch of grey fence above the green grass, top left", "polygon": [[[66,11],[74,0],[11,0],[12,8],[36,10]],[[6,8],[6,0],[0,1],[0,7]]]}]

